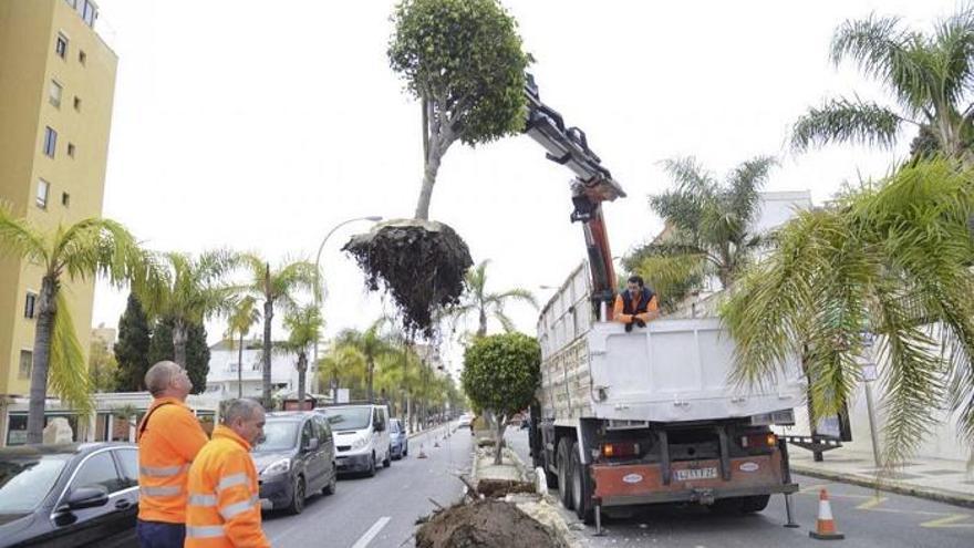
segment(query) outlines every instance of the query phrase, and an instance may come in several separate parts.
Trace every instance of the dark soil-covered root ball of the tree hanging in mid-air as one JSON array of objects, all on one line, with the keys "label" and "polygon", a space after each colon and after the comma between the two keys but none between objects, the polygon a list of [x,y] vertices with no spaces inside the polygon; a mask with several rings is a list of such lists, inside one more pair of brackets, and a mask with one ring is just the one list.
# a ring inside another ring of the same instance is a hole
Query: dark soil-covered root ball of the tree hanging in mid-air
[{"label": "dark soil-covered root ball of the tree hanging in mid-air", "polygon": [[432,337],[438,309],[459,301],[474,265],[466,242],[442,223],[398,219],[353,236],[342,248],[365,272],[369,289],[384,286],[410,332]]}]

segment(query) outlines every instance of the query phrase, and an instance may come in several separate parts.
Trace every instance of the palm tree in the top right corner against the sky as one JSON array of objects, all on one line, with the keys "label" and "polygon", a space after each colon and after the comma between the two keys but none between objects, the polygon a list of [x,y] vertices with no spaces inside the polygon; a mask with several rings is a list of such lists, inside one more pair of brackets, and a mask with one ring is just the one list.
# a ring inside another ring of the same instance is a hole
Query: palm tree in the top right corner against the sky
[{"label": "palm tree in the top right corner against the sky", "polygon": [[919,130],[914,157],[941,152],[971,165],[974,139],[970,101],[974,83],[974,11],[939,22],[932,34],[904,29],[898,18],[846,21],[832,38],[831,59],[851,59],[879,81],[895,106],[833,99],[809,108],[795,124],[791,144],[804,151],[829,142],[891,147],[905,124]]}]

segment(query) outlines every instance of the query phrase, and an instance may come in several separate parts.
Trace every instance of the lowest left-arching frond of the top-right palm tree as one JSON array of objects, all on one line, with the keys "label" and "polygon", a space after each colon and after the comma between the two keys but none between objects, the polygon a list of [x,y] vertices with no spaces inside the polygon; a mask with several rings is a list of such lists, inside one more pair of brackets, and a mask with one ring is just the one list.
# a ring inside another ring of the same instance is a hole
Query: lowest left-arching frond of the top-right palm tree
[{"label": "lowest left-arching frond of the top-right palm tree", "polygon": [[903,118],[875,103],[837,99],[809,108],[791,132],[791,147],[806,151],[811,145],[852,142],[891,147]]}]

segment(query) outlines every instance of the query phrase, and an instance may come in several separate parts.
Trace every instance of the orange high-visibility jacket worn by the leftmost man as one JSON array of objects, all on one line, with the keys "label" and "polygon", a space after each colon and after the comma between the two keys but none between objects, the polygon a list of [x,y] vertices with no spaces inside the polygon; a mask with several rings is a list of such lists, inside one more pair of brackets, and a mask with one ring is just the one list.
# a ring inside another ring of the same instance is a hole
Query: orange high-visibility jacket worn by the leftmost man
[{"label": "orange high-visibility jacket worn by the leftmost man", "polygon": [[138,518],[186,523],[189,464],[206,444],[206,433],[175,397],[153,401],[138,432]]}]

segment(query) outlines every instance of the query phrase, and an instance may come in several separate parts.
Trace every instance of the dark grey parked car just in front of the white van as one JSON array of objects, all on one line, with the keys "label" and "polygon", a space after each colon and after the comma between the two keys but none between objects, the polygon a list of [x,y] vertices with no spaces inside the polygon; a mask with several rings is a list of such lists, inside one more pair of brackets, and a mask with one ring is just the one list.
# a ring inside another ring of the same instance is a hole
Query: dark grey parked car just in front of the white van
[{"label": "dark grey parked car just in front of the white van", "polygon": [[252,453],[261,507],[300,514],[305,498],[334,493],[334,437],[323,416],[307,411],[268,413],[263,436]]}]

